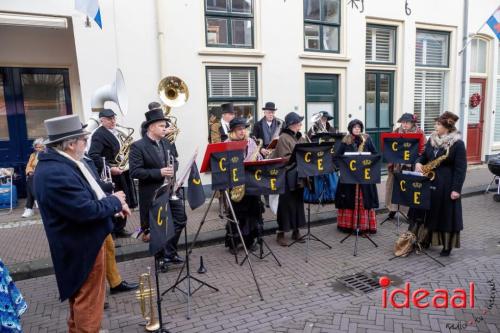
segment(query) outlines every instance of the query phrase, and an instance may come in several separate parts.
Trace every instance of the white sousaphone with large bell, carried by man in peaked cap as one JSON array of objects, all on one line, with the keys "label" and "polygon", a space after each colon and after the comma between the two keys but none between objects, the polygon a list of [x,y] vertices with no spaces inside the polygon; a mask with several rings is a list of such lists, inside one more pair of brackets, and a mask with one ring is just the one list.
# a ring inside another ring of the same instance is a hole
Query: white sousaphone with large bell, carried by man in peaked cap
[{"label": "white sousaphone with large bell, carried by man in peaked cap", "polygon": [[[127,115],[127,91],[125,89],[125,80],[120,69],[116,70],[116,78],[114,82],[98,88],[92,94],[92,112],[101,112],[104,109],[105,102],[114,102],[118,105],[120,113],[123,116]],[[91,117],[87,124],[89,132],[92,132],[99,127],[99,121],[94,117]],[[114,167],[120,168],[121,170],[128,170],[130,146],[134,141],[134,138],[132,137],[134,129],[132,127],[125,127],[123,125],[116,124],[116,130],[118,132],[118,140],[120,141],[120,151],[116,154],[114,160],[110,164]]]}]

